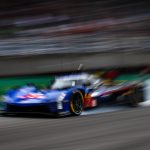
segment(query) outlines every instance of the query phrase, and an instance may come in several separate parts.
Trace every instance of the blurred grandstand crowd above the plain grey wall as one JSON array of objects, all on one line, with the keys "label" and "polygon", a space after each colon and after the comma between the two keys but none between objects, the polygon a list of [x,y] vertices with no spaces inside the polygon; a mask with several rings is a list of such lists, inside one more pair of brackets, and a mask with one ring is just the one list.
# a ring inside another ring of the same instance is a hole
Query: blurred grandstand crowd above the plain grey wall
[{"label": "blurred grandstand crowd above the plain grey wall", "polygon": [[0,55],[146,50],[148,0],[2,0]]}]

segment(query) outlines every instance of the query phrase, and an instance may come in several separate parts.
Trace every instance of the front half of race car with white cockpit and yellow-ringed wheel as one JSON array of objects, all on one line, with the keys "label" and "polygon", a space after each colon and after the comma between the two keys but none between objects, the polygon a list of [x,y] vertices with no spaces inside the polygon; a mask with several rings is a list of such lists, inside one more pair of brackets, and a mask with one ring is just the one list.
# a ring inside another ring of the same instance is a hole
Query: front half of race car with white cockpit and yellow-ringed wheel
[{"label": "front half of race car with white cockpit and yellow-ringed wheel", "polygon": [[88,95],[88,86],[95,82],[97,79],[83,73],[57,77],[50,89],[37,89],[31,84],[11,89],[4,96],[4,113],[38,112],[78,116],[83,109],[96,106]]}]

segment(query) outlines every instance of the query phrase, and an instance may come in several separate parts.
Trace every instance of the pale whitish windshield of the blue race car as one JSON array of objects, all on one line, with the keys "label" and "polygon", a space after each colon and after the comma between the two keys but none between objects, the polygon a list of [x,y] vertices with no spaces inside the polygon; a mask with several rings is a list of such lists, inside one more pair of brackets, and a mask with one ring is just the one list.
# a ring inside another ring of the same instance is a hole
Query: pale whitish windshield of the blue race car
[{"label": "pale whitish windshield of the blue race car", "polygon": [[70,88],[72,86],[75,86],[76,82],[74,80],[56,80],[53,85],[51,86],[51,89],[65,89]]}]

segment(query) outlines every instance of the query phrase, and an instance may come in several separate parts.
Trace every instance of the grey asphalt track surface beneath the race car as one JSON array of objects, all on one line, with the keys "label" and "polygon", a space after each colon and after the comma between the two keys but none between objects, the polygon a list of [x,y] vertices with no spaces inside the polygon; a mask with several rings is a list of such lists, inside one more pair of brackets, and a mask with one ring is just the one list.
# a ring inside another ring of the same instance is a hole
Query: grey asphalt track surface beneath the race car
[{"label": "grey asphalt track surface beneath the race car", "polygon": [[150,107],[79,117],[0,117],[0,150],[149,150]]}]

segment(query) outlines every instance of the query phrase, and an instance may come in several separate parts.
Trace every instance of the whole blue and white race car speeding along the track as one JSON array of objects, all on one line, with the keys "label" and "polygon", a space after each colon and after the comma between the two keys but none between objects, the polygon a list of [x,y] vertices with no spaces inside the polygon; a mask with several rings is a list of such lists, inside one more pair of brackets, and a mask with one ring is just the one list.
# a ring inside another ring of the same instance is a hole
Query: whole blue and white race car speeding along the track
[{"label": "whole blue and white race car speeding along the track", "polygon": [[103,84],[90,74],[57,77],[48,89],[33,85],[9,90],[4,96],[4,113],[48,113],[80,115],[84,109],[103,104],[137,106],[144,101],[143,87],[138,83]]}]

